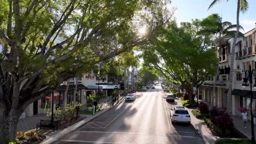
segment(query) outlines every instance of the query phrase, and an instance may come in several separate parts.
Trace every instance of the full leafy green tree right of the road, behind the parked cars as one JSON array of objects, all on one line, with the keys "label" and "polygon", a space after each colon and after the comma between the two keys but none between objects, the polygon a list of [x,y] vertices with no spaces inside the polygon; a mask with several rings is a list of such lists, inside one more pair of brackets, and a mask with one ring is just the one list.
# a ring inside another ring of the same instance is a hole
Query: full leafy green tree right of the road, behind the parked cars
[{"label": "full leafy green tree right of the road, behind the parked cars", "polygon": [[181,27],[173,21],[164,35],[143,49],[144,62],[185,88],[190,103],[194,100],[193,86],[202,85],[216,73],[217,58],[211,47],[211,35],[199,34],[199,30],[199,20],[181,23]]}]

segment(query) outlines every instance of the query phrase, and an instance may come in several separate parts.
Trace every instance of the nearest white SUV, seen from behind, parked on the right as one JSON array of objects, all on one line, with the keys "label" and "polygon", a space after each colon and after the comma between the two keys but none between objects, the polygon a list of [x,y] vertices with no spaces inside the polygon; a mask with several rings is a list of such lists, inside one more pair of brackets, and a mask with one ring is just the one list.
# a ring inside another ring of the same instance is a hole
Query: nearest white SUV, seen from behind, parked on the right
[{"label": "nearest white SUV, seen from behind, parked on the right", "polygon": [[183,106],[173,107],[170,111],[170,117],[171,117],[172,123],[174,122],[190,123],[190,115],[187,109]]}]

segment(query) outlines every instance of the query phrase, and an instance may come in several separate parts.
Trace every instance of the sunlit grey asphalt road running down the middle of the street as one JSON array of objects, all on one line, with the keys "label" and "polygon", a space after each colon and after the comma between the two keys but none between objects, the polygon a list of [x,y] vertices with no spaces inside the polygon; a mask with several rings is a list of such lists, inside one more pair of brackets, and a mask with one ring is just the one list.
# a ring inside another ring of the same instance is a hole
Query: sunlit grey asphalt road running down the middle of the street
[{"label": "sunlit grey asphalt road running down the middle of the street", "polygon": [[172,124],[161,86],[124,101],[56,143],[203,143],[193,125]]}]

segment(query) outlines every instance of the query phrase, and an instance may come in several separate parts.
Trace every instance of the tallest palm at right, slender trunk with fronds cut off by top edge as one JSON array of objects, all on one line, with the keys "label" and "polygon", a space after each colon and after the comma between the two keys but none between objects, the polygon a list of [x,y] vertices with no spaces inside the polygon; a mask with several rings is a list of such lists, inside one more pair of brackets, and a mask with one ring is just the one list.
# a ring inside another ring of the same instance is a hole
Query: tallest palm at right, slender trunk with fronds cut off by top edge
[{"label": "tallest palm at right, slender trunk with fronds cut off by top edge", "polygon": [[[229,1],[229,0],[226,0]],[[212,8],[213,5],[215,5],[217,2],[220,2],[220,0],[214,0],[208,9]],[[236,33],[232,44],[232,50],[231,50],[231,61],[230,61],[230,74],[229,74],[229,90],[228,90],[228,102],[227,102],[227,111],[231,112],[232,110],[232,80],[233,80],[233,73],[234,73],[234,58],[235,58],[235,46],[236,46],[236,39],[239,33],[240,25],[239,25],[239,14],[240,11],[245,12],[248,9],[248,2],[247,0],[237,0],[237,10],[236,10]]]}]

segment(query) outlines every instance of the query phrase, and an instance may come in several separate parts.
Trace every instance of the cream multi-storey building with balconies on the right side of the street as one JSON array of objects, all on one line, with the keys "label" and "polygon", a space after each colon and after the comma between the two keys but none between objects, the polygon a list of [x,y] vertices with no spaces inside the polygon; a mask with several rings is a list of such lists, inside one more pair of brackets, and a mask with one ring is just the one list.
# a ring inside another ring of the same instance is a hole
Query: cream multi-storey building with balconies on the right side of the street
[{"label": "cream multi-storey building with balconies on the right side of the street", "polygon": [[[241,115],[237,110],[238,107],[249,107],[250,103],[250,87],[247,75],[245,74],[249,67],[256,69],[256,27],[251,31],[246,32],[245,38],[237,38],[235,47],[234,59],[234,75],[232,80],[232,98],[229,101],[227,98],[228,81],[230,74],[230,52],[233,39],[226,40],[226,44],[219,47],[220,61],[219,61],[219,74],[216,76],[217,81],[213,77],[209,77],[204,85],[200,88],[202,93],[202,100],[205,100],[214,106],[226,109],[227,104],[230,102],[232,105],[232,115]],[[256,116],[255,103],[256,103],[256,71],[253,73],[253,112]],[[215,91],[213,91],[215,87]],[[213,97],[215,93],[215,97]],[[255,119],[256,120],[256,119]],[[254,122],[255,122],[254,120]]]}]

